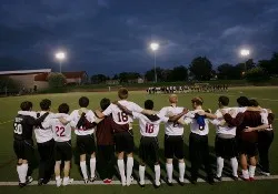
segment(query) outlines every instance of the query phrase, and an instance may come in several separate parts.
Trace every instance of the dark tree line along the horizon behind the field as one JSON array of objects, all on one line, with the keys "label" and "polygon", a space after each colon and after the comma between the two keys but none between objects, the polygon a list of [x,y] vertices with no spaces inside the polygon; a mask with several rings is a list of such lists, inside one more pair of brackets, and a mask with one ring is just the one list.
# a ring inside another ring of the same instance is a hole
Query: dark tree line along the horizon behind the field
[{"label": "dark tree line along the horizon behind the field", "polygon": [[[172,69],[157,68],[157,78],[160,82],[176,81],[208,81],[218,80],[239,80],[250,81],[268,79],[278,75],[278,52],[274,52],[268,60],[260,60],[257,63],[252,59],[238,64],[224,63],[214,69],[212,63],[206,57],[195,58],[189,65],[177,65]],[[109,78],[105,74],[95,74],[91,76],[91,83],[103,83],[107,80],[119,80],[120,83],[127,83],[138,78],[146,81],[155,81],[155,69],[148,70],[145,74],[137,72],[121,72]]]}]

